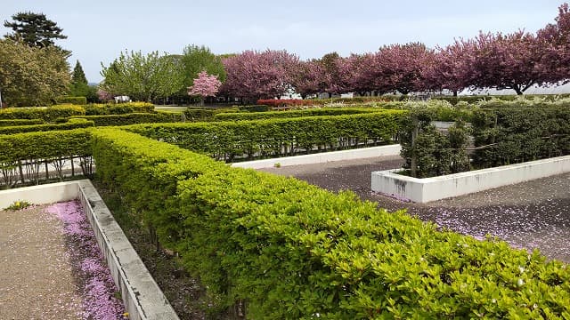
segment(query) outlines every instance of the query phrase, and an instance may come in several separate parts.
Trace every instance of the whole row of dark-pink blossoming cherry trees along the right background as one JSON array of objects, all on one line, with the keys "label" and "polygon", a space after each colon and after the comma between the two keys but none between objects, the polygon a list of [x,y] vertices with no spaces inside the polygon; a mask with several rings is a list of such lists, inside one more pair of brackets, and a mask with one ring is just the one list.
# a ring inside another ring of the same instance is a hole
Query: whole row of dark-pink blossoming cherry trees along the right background
[{"label": "whole row of dark-pink blossoming cherry trees along the right background", "polygon": [[559,7],[555,24],[535,34],[480,33],[446,47],[391,44],[378,52],[341,57],[336,52],[302,61],[285,51],[242,52],[224,59],[222,92],[245,100],[279,97],[294,88],[305,97],[318,92],[441,91],[468,87],[513,89],[570,78],[570,12]]}]

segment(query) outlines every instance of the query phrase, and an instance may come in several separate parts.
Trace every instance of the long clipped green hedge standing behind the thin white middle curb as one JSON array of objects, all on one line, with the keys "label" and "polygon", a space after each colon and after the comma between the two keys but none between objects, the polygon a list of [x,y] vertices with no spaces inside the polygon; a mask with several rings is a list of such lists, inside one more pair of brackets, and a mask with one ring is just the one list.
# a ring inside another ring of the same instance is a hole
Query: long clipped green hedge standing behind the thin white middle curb
[{"label": "long clipped green hedge standing behind the thin white middle curb", "polygon": [[232,162],[240,157],[274,157],[330,149],[387,144],[403,110],[351,116],[313,116],[239,122],[139,124],[127,127],[156,140]]}]

